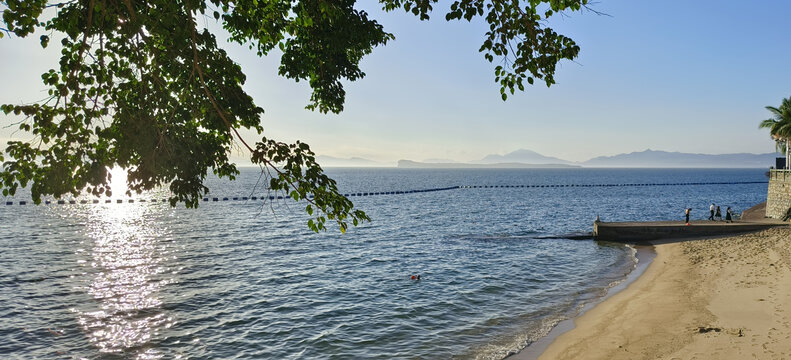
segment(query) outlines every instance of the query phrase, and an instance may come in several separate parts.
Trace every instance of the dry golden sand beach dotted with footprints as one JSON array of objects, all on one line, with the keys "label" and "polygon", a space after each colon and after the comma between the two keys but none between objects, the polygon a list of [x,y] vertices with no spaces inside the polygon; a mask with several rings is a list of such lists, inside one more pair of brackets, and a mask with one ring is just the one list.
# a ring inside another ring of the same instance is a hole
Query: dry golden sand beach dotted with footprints
[{"label": "dry golden sand beach dotted with footprints", "polygon": [[656,246],[539,359],[791,359],[791,228]]}]

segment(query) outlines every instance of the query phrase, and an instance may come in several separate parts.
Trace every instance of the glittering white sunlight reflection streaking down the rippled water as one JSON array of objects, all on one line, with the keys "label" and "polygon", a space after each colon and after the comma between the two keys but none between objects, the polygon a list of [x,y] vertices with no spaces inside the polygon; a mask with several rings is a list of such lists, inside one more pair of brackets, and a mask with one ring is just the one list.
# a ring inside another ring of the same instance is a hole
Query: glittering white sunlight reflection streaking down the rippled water
[{"label": "glittering white sunlight reflection streaking down the rippled water", "polygon": [[[114,170],[113,180],[118,178]],[[101,352],[162,358],[149,342],[173,325],[159,296],[173,279],[165,268],[172,255],[162,241],[164,231],[151,221],[156,210],[142,204],[112,204],[89,211],[87,230],[93,249],[89,262],[79,265],[93,274],[87,291],[98,309],[78,312],[78,321]]]}]

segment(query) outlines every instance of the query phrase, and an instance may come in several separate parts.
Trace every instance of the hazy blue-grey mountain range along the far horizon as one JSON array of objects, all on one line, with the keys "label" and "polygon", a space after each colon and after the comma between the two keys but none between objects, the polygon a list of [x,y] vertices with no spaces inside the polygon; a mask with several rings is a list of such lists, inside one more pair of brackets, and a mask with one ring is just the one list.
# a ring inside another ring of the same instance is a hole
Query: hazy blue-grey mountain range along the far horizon
[{"label": "hazy blue-grey mountain range along the far horizon", "polygon": [[[422,162],[399,160],[401,168],[566,168],[566,167],[643,167],[643,168],[769,168],[775,164],[777,153],[766,154],[690,154],[681,152],[644,150],[613,156],[599,156],[583,162],[572,162],[545,156],[532,150],[519,149],[499,155],[491,154],[479,161],[461,163],[444,159]],[[392,166],[363,158],[340,159],[317,156],[319,164],[326,167]]]}]

